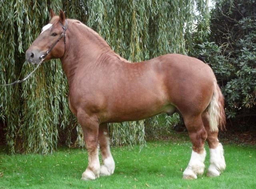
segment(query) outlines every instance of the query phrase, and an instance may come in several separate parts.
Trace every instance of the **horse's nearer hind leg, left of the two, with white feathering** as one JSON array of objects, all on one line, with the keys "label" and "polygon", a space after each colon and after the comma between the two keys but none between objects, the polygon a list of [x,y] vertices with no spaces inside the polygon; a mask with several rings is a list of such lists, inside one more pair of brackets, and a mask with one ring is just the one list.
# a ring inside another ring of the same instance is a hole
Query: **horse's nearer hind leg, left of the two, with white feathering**
[{"label": "horse's nearer hind leg, left of the two, with white feathering", "polygon": [[193,145],[191,158],[188,167],[183,172],[183,178],[196,179],[197,175],[202,175],[204,173],[204,159],[206,156],[204,141],[206,140],[207,133],[201,115],[183,115],[183,117]]}]

